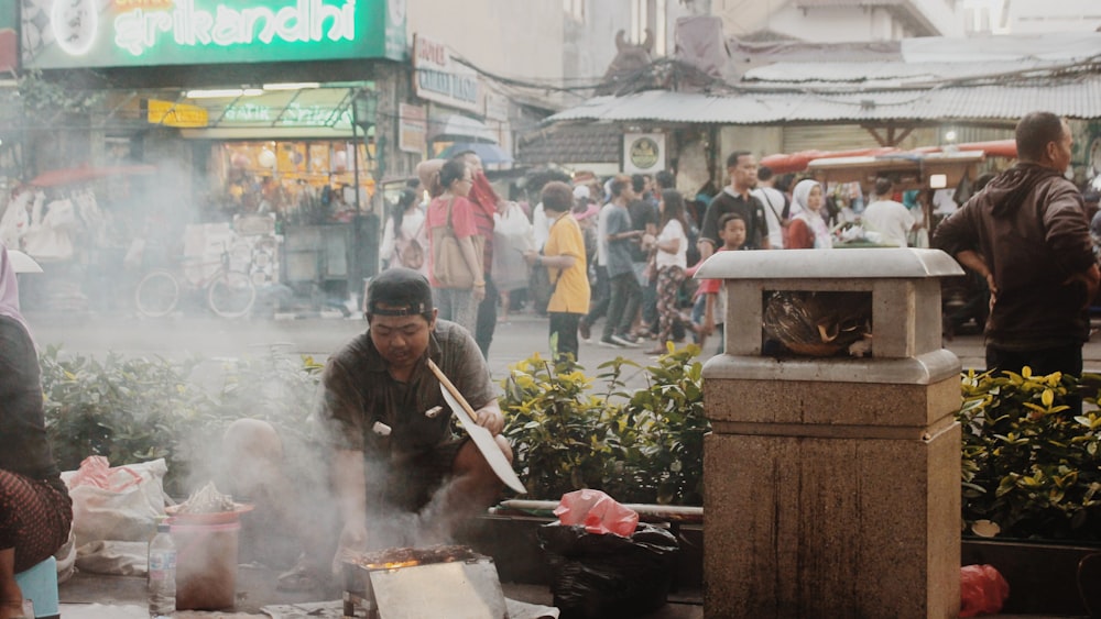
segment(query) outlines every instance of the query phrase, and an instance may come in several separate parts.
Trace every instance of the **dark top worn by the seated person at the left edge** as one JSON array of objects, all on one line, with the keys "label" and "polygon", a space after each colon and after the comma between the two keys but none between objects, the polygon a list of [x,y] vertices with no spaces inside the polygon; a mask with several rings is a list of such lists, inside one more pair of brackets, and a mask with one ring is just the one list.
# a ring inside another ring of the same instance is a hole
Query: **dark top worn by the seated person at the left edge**
[{"label": "dark top worn by the seated person at the left edge", "polygon": [[0,316],[0,468],[65,489],[46,439],[34,342],[7,316]]}]

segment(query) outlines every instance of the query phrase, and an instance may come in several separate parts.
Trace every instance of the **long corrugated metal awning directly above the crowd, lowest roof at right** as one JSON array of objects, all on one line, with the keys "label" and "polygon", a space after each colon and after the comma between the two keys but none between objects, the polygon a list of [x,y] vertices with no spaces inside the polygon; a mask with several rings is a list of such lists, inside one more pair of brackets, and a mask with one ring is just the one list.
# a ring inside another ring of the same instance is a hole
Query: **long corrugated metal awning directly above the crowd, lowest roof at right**
[{"label": "long corrugated metal awning directly above the crowd, lowest roof at right", "polygon": [[699,95],[647,90],[596,97],[546,119],[655,121],[705,124],[860,122],[887,120],[1016,120],[1047,110],[1076,119],[1101,119],[1101,75],[1034,80],[1021,85],[873,90],[844,93],[742,92]]}]

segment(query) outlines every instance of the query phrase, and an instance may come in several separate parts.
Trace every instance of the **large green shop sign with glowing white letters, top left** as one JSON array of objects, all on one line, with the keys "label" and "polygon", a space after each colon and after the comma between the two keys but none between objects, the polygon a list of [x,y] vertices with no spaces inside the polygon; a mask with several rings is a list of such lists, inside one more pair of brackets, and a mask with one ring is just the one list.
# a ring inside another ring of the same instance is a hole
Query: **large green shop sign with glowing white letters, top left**
[{"label": "large green shop sign with glowing white letters, top left", "polygon": [[404,59],[406,0],[24,0],[23,66]]}]

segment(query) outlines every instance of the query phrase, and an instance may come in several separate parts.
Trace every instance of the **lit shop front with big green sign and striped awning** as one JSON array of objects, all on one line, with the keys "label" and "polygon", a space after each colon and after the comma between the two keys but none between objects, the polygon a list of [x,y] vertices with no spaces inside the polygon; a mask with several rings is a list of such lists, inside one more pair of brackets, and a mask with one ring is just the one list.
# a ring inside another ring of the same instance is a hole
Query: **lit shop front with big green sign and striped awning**
[{"label": "lit shop front with big green sign and striped awning", "polygon": [[405,0],[101,4],[24,0],[22,67],[102,85],[68,131],[84,162],[157,167],[133,179],[127,201],[142,208],[128,217],[144,221],[131,233],[167,228],[155,232],[200,258],[221,247],[196,234],[271,236],[277,269],[235,253],[258,283],[326,300],[361,290],[378,268],[374,183],[408,91]]}]

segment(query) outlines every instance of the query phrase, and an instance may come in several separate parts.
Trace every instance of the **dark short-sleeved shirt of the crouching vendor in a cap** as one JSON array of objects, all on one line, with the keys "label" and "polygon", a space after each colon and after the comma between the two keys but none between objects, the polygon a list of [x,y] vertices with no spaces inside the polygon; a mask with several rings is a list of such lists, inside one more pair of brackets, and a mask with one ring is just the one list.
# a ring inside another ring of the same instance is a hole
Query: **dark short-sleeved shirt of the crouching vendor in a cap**
[{"label": "dark short-sleeved shirt of the crouching vendor in a cap", "polygon": [[[478,410],[497,397],[478,344],[467,330],[437,320],[428,356]],[[369,460],[401,460],[432,451],[451,440],[450,407],[439,380],[421,362],[407,383],[394,379],[371,341],[370,331],[356,336],[329,358],[321,375],[325,398],[318,411],[321,441],[331,449],[362,451]],[[424,412],[440,406],[444,412]],[[389,436],[375,422],[391,428]]]}]

